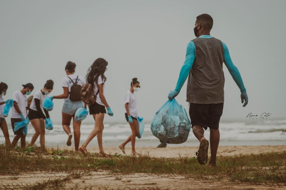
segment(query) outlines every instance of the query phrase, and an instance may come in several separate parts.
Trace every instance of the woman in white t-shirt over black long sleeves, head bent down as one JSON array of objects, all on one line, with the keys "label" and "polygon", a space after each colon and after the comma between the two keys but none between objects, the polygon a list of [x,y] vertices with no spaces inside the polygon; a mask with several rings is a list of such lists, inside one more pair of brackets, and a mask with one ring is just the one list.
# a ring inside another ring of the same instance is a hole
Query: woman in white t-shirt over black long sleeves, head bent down
[{"label": "woman in white t-shirt over black long sleeves, head bent down", "polygon": [[[41,148],[45,147],[45,119],[49,118],[48,111],[43,107],[43,102],[47,95],[53,90],[54,82],[52,80],[47,80],[42,90],[37,91],[33,95],[33,99],[29,108],[29,120],[35,129],[35,134],[32,137],[30,146],[33,146],[40,136]],[[45,115],[44,113],[45,112]]]}]

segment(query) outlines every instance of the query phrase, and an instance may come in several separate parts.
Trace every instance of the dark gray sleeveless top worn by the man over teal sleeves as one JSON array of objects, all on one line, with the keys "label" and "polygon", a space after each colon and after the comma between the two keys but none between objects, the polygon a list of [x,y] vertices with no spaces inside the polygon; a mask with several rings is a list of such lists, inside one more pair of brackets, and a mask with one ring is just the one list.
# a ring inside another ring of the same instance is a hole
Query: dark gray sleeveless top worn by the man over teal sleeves
[{"label": "dark gray sleeveless top worn by the man over teal sleeves", "polygon": [[187,102],[217,104],[224,102],[223,44],[216,38],[196,38],[194,63],[187,84]]}]

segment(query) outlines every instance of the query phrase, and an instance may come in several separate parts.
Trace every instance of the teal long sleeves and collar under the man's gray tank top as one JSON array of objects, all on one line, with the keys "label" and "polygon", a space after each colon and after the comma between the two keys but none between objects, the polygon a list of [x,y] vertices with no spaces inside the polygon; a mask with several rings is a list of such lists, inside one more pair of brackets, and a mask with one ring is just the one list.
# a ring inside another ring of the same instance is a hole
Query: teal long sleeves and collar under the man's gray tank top
[{"label": "teal long sleeves and collar under the man's gray tank top", "polygon": [[[212,36],[209,35],[202,35],[199,38],[212,38]],[[224,60],[225,66],[229,70],[229,73],[233,77],[233,80],[239,87],[241,93],[246,92],[246,89],[244,87],[241,75],[239,73],[239,70],[237,67],[233,64],[231,60],[231,56],[229,55],[229,49],[227,48],[227,45],[223,43],[223,54],[224,54]],[[192,65],[194,63],[194,59],[196,57],[196,47],[194,42],[189,42],[187,46],[187,52],[186,52],[186,60],[181,68],[179,79],[175,88],[176,92],[180,92],[182,86],[184,85],[186,79],[188,78],[188,75],[190,73],[190,69],[192,68]]]}]

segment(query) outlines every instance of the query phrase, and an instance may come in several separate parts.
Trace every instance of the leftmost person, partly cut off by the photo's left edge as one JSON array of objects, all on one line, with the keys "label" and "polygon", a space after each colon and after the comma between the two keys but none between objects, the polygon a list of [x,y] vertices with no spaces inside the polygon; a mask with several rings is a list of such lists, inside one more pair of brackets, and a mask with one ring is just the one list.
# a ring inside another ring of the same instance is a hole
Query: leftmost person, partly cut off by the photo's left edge
[{"label": "leftmost person, partly cut off by the photo's left edge", "polygon": [[3,83],[1,82],[0,83],[0,127],[1,127],[1,130],[3,132],[3,135],[5,137],[5,141],[6,141],[6,145],[8,148],[11,147],[11,141],[10,141],[10,138],[9,138],[9,132],[8,132],[8,126],[7,126],[7,123],[6,123],[6,120],[3,116],[3,110],[4,110],[4,107],[8,101],[10,101],[10,99],[4,101],[3,99],[3,96],[6,95],[6,91],[8,89],[8,85],[6,83]]}]

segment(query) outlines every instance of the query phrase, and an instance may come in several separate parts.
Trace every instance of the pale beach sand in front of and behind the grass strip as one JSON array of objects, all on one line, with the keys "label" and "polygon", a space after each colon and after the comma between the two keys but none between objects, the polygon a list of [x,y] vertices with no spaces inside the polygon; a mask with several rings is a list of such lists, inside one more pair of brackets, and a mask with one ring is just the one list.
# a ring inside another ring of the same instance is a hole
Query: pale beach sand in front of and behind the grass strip
[{"label": "pale beach sand in front of and behind the grass strip", "polygon": [[[91,153],[98,152],[97,147],[87,147]],[[117,147],[105,147],[107,154],[122,154]],[[126,147],[126,154],[131,154],[131,147]],[[141,154],[149,154],[151,157],[194,157],[198,147],[140,147],[136,149]],[[260,154],[267,152],[284,152],[286,146],[219,146],[218,156],[232,156],[239,154]],[[202,166],[206,167],[206,166]],[[15,188],[24,189],[27,185],[37,184],[44,180],[66,179],[70,173],[55,173],[38,171],[31,173],[18,173],[15,175],[1,175],[0,189]],[[10,184],[10,185],[9,185]],[[190,179],[183,175],[172,174],[146,174],[130,173],[120,174],[109,171],[93,171],[89,175],[82,175],[80,179],[72,179],[66,183],[63,189],[286,189],[285,184],[251,184],[242,182],[230,182],[227,179],[221,181]]]}]

